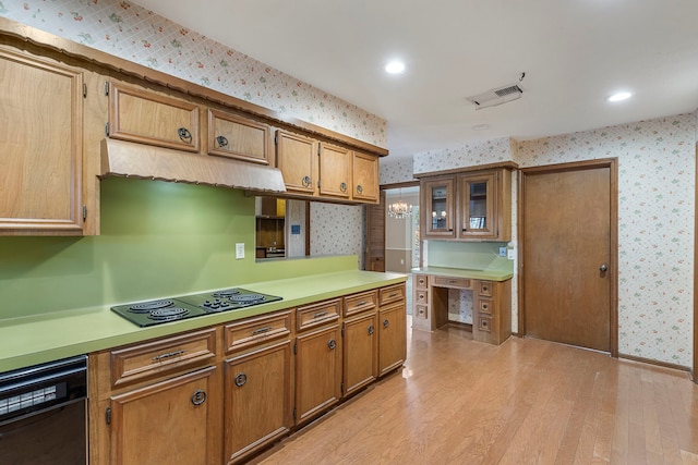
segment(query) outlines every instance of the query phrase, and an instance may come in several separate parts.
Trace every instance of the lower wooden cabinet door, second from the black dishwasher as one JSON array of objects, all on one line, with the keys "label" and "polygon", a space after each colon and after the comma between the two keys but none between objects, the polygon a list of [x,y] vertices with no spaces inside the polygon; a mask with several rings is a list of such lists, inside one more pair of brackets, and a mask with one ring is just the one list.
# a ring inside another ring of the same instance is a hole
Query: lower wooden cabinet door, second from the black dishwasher
[{"label": "lower wooden cabinet door, second from the black dishwasher", "polygon": [[228,463],[289,431],[291,342],[226,363],[225,451]]}]

